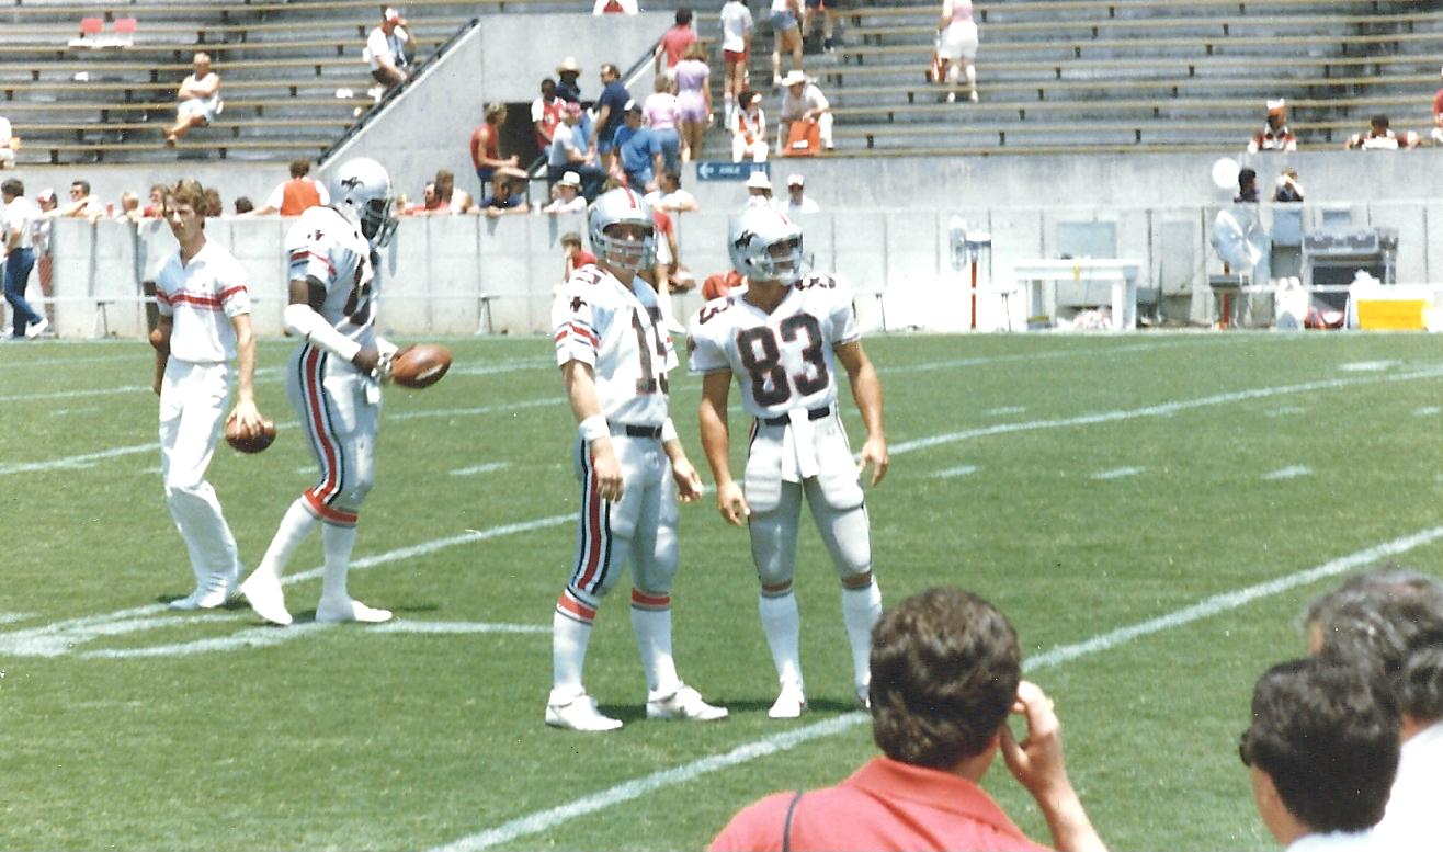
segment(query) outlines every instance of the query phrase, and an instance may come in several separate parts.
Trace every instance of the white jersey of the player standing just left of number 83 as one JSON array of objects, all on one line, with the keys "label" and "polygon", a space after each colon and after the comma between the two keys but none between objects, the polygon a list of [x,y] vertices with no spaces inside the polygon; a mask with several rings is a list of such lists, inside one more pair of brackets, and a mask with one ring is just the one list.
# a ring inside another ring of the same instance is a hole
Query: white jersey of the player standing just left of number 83
[{"label": "white jersey of the player standing just left of number 83", "polygon": [[667,373],[677,367],[677,351],[661,328],[651,284],[636,277],[628,287],[599,266],[583,266],[557,292],[551,328],[557,365],[592,365],[608,422],[665,422]]}]

